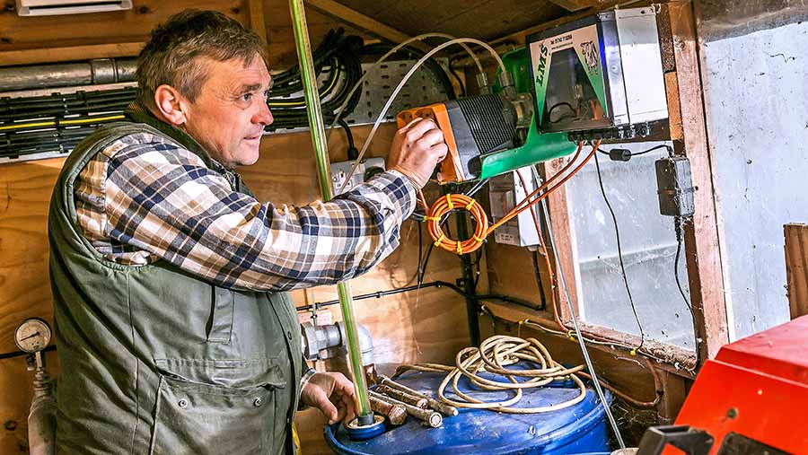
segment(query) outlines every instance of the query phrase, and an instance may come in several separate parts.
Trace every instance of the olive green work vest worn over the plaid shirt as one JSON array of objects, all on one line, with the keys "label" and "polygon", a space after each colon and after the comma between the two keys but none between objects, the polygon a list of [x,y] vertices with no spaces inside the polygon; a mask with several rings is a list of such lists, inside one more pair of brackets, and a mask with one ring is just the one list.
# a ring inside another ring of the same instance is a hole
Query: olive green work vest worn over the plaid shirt
[{"label": "olive green work vest worn over the plaid shirt", "polygon": [[128,115],[76,146],[51,198],[57,453],[288,453],[305,367],[288,295],[226,289],[163,260],[116,264],[80,231],[76,176],[130,134],[166,137],[249,191],[190,136]]}]

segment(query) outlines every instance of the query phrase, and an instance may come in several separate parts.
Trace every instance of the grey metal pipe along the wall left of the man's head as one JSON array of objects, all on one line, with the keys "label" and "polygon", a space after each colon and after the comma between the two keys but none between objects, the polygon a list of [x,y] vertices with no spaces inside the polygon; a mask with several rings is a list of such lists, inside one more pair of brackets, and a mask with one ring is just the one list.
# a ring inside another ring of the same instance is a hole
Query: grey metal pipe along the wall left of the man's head
[{"label": "grey metal pipe along the wall left of the man's head", "polygon": [[136,58],[97,58],[81,63],[0,68],[0,92],[135,80]]}]

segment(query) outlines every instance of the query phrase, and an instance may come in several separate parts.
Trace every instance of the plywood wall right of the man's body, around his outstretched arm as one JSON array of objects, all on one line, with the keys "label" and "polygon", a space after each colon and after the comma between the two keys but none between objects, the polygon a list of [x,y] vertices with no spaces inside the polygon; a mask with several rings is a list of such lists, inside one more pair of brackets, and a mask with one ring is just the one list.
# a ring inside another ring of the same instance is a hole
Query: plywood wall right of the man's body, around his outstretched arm
[{"label": "plywood wall right of the man's body, around his outstretched arm", "polygon": [[[357,147],[363,144],[369,127],[354,127]],[[373,140],[368,156],[386,156],[394,127],[382,126]],[[329,142],[331,161],[346,160],[344,135],[336,131]],[[321,197],[308,132],[270,136],[262,146],[262,155],[254,166],[239,170],[261,200],[308,204]],[[428,197],[428,196],[427,196]],[[430,199],[431,200],[431,199]],[[424,244],[428,234],[423,232]],[[417,224],[405,222],[401,228],[401,246],[369,273],[352,280],[354,295],[373,293],[416,283]],[[426,248],[425,248],[426,249]],[[427,268],[425,282],[454,282],[461,276],[460,259],[435,249]],[[480,288],[487,289],[485,277]],[[295,304],[327,302],[337,298],[335,286],[312,288],[309,296],[293,293]],[[452,362],[454,354],[469,343],[465,300],[449,289],[425,288],[358,301],[356,319],[373,336],[374,358],[380,372],[390,374],[400,363]],[[338,305],[329,307],[330,319],[341,320]],[[329,369],[347,372],[342,363],[328,363]],[[303,453],[331,453],[322,439],[324,421],[316,410],[303,412],[297,419]]]}]

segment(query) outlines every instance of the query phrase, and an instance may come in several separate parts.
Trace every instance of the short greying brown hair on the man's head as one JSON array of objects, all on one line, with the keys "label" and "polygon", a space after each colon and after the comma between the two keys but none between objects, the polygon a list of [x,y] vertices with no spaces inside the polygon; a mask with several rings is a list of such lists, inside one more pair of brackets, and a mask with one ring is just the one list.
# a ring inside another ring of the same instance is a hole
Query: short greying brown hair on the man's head
[{"label": "short greying brown hair on the man's head", "polygon": [[245,65],[260,56],[267,60],[259,36],[215,11],[186,10],[154,28],[137,57],[137,99],[154,106],[154,92],[163,83],[195,101],[207,80],[200,57],[224,62],[240,58]]}]

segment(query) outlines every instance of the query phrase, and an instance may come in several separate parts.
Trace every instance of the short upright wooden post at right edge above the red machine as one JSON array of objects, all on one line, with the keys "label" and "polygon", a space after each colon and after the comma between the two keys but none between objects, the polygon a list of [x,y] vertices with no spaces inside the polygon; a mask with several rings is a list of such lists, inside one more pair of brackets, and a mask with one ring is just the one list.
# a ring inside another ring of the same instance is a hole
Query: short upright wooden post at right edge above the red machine
[{"label": "short upright wooden post at right edge above the red machine", "polygon": [[786,224],[786,276],[791,319],[808,314],[808,224]]}]

